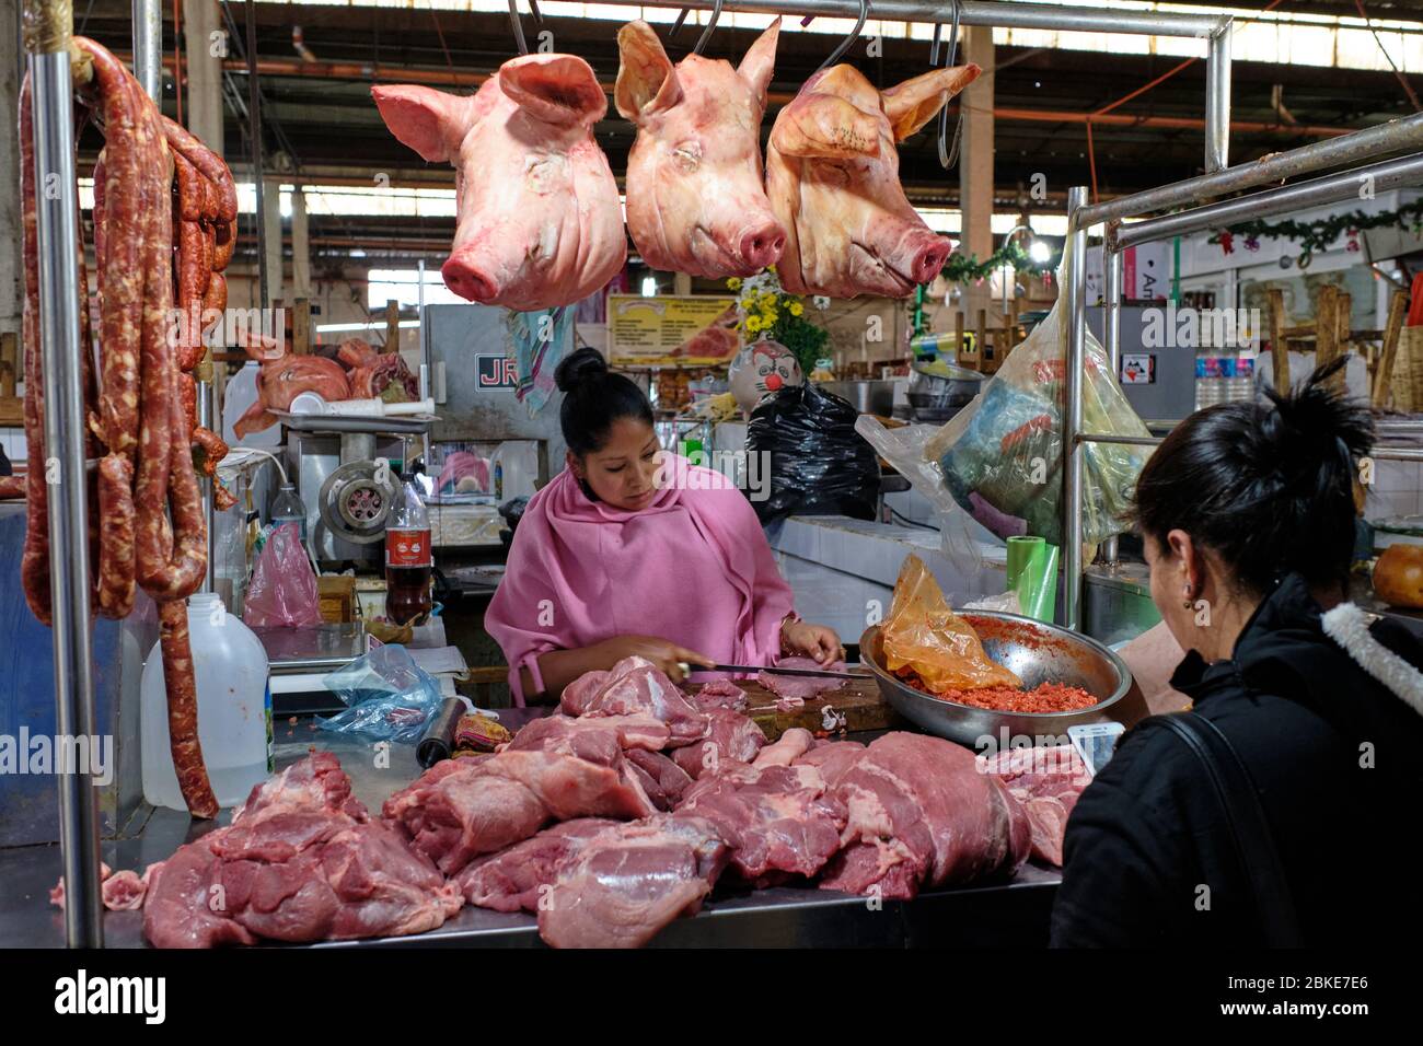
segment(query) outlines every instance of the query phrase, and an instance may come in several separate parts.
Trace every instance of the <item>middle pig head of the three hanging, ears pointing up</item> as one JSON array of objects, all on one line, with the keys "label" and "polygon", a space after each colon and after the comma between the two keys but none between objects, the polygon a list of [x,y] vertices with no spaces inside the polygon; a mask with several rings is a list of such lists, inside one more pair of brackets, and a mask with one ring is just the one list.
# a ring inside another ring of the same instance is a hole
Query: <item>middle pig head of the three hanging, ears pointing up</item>
[{"label": "middle pig head of the three hanging, ears pointing up", "polygon": [[613,101],[638,125],[628,231],[653,269],[721,279],[780,260],[785,229],[761,182],[761,117],[780,19],[741,64],[689,54],[673,67],[646,21],[618,31]]}]

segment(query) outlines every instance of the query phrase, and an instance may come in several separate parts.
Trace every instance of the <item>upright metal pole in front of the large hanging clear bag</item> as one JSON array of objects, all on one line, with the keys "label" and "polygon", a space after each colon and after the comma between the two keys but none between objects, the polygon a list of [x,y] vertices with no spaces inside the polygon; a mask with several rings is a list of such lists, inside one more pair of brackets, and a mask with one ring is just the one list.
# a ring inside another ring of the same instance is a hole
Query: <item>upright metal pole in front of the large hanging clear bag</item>
[{"label": "upright metal pole in front of the large hanging clear bag", "polygon": [[[1087,186],[1067,191],[1069,216],[1087,204]],[[1067,410],[1063,413],[1063,625],[1076,630],[1081,622],[1081,383],[1087,359],[1087,231],[1069,233],[1064,336],[1067,339]]]}]

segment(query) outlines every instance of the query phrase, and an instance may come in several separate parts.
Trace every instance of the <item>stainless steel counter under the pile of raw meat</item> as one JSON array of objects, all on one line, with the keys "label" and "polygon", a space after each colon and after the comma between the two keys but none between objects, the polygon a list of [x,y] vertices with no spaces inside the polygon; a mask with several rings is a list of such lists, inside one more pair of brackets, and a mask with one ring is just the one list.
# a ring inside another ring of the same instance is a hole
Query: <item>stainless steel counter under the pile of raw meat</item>
[{"label": "stainless steel counter under the pile of raw meat", "polygon": [[[511,729],[539,714],[501,709]],[[277,726],[277,767],[295,763],[310,746],[336,753],[351,777],[351,790],[373,811],[418,773],[411,746],[391,746],[390,766],[379,767],[369,744],[310,727]],[[231,814],[219,818],[225,824]],[[111,868],[142,870],[168,858],[179,845],[213,825],[196,825],[186,813],[145,805],[121,838],[105,840]],[[61,948],[64,921],[48,891],[60,877],[55,845],[0,850],[0,946]],[[702,912],[677,919],[657,935],[656,946],[906,946],[1046,944],[1047,916],[1060,881],[1057,871],[1025,865],[1013,879],[972,889],[941,889],[914,901],[874,907],[862,897],[814,888],[760,891],[719,888]],[[105,912],[110,948],[142,948],[142,912]],[[373,941],[324,942],[317,948],[371,946],[542,946],[532,915],[467,907],[428,934]]]}]

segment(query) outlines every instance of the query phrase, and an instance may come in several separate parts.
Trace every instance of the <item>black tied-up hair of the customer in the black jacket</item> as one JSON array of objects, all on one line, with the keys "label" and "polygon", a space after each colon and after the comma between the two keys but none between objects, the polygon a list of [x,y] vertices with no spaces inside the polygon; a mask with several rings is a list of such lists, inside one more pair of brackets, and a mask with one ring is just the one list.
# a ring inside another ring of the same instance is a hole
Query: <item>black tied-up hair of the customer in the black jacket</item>
[{"label": "black tied-up hair of the customer in the black jacket", "polygon": [[1373,420],[1332,387],[1343,364],[1332,360],[1288,394],[1266,389],[1266,401],[1191,414],[1141,470],[1131,522],[1158,545],[1185,531],[1254,596],[1288,574],[1345,586],[1358,463],[1373,445]]}]

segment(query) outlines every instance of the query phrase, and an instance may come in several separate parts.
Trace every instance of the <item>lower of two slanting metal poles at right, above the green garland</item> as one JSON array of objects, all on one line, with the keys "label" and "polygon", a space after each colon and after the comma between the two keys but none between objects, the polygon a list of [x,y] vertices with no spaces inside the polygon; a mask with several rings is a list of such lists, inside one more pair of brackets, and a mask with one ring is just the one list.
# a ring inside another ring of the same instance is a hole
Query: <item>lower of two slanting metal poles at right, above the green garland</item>
[{"label": "lower of two slanting metal poles at right, above the green garland", "polygon": [[1423,154],[1389,159],[1382,164],[1358,167],[1352,171],[1315,178],[1308,182],[1285,185],[1279,189],[1257,192],[1238,199],[1228,199],[1224,204],[1210,204],[1191,211],[1150,218],[1134,225],[1123,225],[1109,229],[1107,246],[1121,250],[1137,243],[1168,239],[1170,236],[1188,236],[1207,229],[1218,229],[1231,222],[1247,221],[1249,218],[1268,218],[1269,215],[1302,211],[1309,206],[1323,204],[1338,204],[1346,199],[1358,199],[1360,189],[1368,186],[1372,192],[1385,192],[1405,185],[1419,185],[1423,182]]}]

